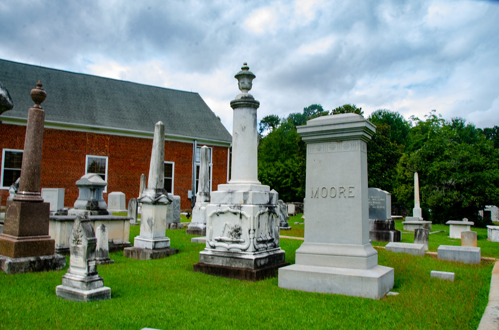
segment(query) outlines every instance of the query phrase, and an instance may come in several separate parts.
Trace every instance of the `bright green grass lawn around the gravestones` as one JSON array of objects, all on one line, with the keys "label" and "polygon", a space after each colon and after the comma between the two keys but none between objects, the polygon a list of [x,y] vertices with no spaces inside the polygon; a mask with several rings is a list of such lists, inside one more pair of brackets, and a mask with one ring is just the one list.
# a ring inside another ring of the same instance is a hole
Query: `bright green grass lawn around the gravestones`
[{"label": "bright green grass lawn around the gravestones", "polygon": [[[303,233],[303,225],[294,222],[291,218],[293,229],[281,235]],[[131,227],[131,241],[138,233],[139,226]],[[0,329],[476,329],[488,302],[492,262],[465,265],[379,249],[378,263],[395,269],[392,291],[399,295],[376,301],[284,290],[277,287],[277,277],[247,282],[194,273],[204,245],[191,243],[194,236],[185,229],[167,230],[167,236],[179,254],[140,261],[116,252],[110,254],[115,264],[98,266],[104,285],[111,288],[107,301],[76,303],[56,297],[67,267],[19,275],[0,272]],[[402,239],[412,242],[409,234]],[[430,250],[452,242],[445,234],[432,234]],[[301,243],[280,240],[286,261],[294,263]],[[479,246],[482,255],[499,254],[499,247],[484,242],[480,231]],[[456,280],[430,278],[431,270],[455,272]]]}]

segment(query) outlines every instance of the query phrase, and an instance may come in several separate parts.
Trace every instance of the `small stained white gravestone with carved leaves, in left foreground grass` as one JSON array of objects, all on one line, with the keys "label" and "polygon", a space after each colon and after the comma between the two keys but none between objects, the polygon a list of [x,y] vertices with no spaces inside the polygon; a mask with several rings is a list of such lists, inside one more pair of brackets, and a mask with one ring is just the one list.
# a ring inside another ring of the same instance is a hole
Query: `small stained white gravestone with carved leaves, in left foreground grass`
[{"label": "small stained white gravestone with carved leaves, in left foreground grass", "polygon": [[97,273],[96,245],[90,219],[78,215],[71,231],[69,268],[62,277],[62,285],[55,288],[57,297],[82,302],[111,299],[111,289],[104,286]]}]

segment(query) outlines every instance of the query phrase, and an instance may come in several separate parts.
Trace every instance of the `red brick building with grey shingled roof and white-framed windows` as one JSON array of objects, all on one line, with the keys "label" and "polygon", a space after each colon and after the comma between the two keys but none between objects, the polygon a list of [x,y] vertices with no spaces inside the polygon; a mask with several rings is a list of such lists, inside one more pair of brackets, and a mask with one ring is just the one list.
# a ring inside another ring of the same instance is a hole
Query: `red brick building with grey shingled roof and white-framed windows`
[{"label": "red brick building with grey shingled roof and white-framed windows", "polygon": [[[14,108],[0,124],[0,196],[20,175],[29,92],[40,80],[47,93],[41,165],[42,188],[64,188],[64,205],[78,197],[82,175],[97,173],[107,193],[138,197],[149,173],[154,124],[165,124],[165,188],[191,209],[202,146],[210,147],[212,190],[229,180],[232,137],[198,93],[44,68],[0,59],[0,82]],[[194,183],[194,184],[193,184]]]}]

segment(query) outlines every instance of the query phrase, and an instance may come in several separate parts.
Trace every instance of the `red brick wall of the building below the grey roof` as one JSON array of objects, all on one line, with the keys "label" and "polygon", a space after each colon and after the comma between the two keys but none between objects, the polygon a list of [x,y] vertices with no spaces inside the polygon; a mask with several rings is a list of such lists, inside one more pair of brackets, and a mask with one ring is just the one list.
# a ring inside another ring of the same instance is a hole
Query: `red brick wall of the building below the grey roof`
[{"label": "red brick wall of the building below the grey roof", "polygon": [[[0,124],[0,150],[23,149],[26,127]],[[42,188],[64,188],[64,205],[72,207],[78,198],[76,180],[85,174],[86,155],[107,156],[107,192],[139,195],[140,174],[149,175],[152,139],[123,137],[87,132],[44,129],[40,185]],[[213,189],[227,183],[227,147],[213,147]],[[181,197],[181,208],[190,209],[192,143],[165,141],[165,161],[175,162],[174,194]],[[0,153],[1,158],[1,153]],[[0,160],[1,162],[1,160]],[[0,163],[1,164],[1,163]],[[0,189],[1,204],[8,197]],[[104,193],[107,202],[107,193]]]}]

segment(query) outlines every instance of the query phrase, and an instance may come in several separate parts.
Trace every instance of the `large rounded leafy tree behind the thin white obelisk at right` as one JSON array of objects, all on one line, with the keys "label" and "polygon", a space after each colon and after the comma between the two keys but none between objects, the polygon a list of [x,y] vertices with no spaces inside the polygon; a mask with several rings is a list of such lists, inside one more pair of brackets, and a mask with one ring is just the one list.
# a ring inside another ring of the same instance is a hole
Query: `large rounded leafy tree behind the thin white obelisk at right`
[{"label": "large rounded leafy tree behind the thin white obelisk at right", "polygon": [[499,151],[492,141],[463,119],[446,122],[435,112],[410,136],[415,139],[411,146],[420,147],[397,164],[398,200],[413,206],[417,171],[424,217],[434,223],[467,217],[483,225],[478,211],[499,202]]}]

